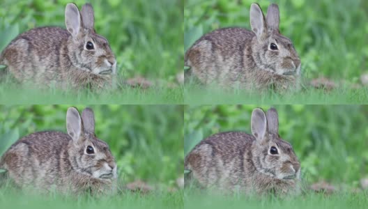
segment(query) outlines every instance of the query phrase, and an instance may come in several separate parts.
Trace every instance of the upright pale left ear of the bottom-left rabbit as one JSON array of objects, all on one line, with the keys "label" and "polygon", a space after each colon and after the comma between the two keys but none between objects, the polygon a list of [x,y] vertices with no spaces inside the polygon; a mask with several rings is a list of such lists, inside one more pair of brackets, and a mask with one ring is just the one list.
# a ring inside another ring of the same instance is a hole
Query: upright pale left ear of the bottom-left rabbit
[{"label": "upright pale left ear of the bottom-left rabbit", "polygon": [[78,141],[82,133],[82,119],[75,107],[69,107],[66,112],[66,130],[73,141]]}]

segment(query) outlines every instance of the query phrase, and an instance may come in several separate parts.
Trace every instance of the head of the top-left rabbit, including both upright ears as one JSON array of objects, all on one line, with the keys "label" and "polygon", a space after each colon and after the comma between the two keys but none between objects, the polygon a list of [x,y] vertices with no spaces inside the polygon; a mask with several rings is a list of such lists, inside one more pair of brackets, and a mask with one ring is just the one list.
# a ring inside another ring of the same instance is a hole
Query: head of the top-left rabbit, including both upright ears
[{"label": "head of the top-left rabbit, including both upright ears", "polygon": [[74,3],[68,3],[65,17],[66,29],[71,34],[68,52],[72,64],[95,75],[115,74],[115,56],[107,39],[95,33],[91,4],[84,4],[79,13]]}]

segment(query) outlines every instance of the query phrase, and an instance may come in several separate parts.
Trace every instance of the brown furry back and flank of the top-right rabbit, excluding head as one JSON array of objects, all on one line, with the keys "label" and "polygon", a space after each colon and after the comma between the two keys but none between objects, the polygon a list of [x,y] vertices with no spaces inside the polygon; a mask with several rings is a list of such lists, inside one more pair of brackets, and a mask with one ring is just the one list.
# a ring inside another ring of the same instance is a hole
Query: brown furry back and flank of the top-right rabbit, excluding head
[{"label": "brown furry back and flank of the top-right rabbit, excluding head", "polygon": [[250,76],[243,73],[247,72],[244,69],[251,69],[254,65],[247,59],[252,52],[250,42],[254,36],[252,31],[241,28],[212,31],[187,50],[185,65],[203,84],[216,82],[221,86],[231,86],[233,82],[243,82]]}]

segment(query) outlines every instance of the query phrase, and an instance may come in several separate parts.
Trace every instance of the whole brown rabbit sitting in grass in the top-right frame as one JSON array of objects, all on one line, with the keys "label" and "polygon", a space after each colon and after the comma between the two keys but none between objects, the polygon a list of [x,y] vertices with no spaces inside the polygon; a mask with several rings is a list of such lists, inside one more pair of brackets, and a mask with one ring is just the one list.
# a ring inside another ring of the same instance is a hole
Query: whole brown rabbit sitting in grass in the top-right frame
[{"label": "whole brown rabbit sitting in grass in the top-right frame", "polygon": [[[289,38],[279,33],[279,8],[272,3],[266,19],[257,3],[250,7],[252,31],[217,29],[185,53],[185,79],[221,88],[289,91],[300,88],[300,59]],[[186,82],[187,83],[187,82]]]}]

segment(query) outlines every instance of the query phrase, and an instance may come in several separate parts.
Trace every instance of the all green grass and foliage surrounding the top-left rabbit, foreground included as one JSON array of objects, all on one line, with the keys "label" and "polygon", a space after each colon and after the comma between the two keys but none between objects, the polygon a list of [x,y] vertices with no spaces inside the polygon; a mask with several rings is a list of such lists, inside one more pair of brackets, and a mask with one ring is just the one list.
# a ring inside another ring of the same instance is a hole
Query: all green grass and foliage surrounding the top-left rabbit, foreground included
[{"label": "all green grass and foliage surrounding the top-left rabbit, foreground included", "polygon": [[[0,51],[18,34],[38,26],[65,29],[64,10],[70,1],[4,0],[0,3]],[[73,1],[79,8],[86,1]],[[183,60],[183,0],[91,0],[95,30],[109,40],[119,77],[145,77],[157,84],[148,90],[122,88],[111,93],[30,91],[17,84],[0,84],[1,104],[172,104],[182,102],[176,81]],[[1,67],[0,67],[0,70]],[[1,73],[0,73],[1,74]],[[158,84],[159,83],[159,84]],[[175,89],[170,86],[176,84]],[[37,87],[39,85],[35,85]],[[75,100],[77,98],[77,100]]]}]

